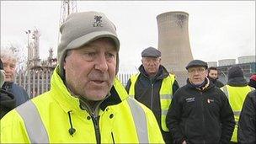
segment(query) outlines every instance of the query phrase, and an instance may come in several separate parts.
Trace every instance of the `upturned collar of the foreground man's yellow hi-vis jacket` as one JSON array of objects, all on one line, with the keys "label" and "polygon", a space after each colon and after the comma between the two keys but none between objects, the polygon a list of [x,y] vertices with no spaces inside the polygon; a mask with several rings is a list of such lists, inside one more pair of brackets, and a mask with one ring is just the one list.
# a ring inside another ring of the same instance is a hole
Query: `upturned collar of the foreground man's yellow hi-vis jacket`
[{"label": "upturned collar of the foreground man's yellow hi-vis jacket", "polygon": [[[59,67],[59,66],[58,66]],[[80,100],[77,96],[72,95],[67,89],[65,83],[60,77],[59,68],[56,67],[53,75],[51,77],[51,91],[53,99],[61,105],[61,108],[68,111],[77,111],[78,113],[83,113],[83,109],[80,107]],[[116,89],[118,87],[119,89]],[[114,85],[109,91],[109,97],[104,99],[103,102],[99,105],[100,109],[105,109],[108,105],[120,104],[124,99],[127,99],[128,93],[126,93],[125,88],[115,77]]]}]

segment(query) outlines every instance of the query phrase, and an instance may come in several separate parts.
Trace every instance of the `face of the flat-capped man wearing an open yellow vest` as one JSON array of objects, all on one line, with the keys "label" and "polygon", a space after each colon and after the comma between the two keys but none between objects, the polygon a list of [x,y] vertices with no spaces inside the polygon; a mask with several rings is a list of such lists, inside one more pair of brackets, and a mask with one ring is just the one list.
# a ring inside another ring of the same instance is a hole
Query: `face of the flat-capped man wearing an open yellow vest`
[{"label": "face of the flat-capped man wearing an open yellow vest", "polygon": [[160,67],[160,57],[142,57],[142,65],[149,76],[155,76]]}]

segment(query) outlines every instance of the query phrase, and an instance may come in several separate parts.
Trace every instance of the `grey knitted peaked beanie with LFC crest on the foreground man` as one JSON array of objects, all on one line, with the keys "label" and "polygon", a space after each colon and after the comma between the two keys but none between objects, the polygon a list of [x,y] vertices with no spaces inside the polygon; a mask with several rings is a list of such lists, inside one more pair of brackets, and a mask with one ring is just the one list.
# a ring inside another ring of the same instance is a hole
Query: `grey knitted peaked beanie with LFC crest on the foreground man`
[{"label": "grey knitted peaked beanie with LFC crest on the foreground man", "polygon": [[[117,51],[120,49],[120,40],[117,38],[115,25],[99,12],[71,13],[66,22],[61,25],[61,43],[58,46],[57,56],[60,75],[65,77],[63,63],[67,51],[80,48],[93,40],[108,37],[115,41]],[[116,73],[119,67],[119,57],[116,60]]]}]

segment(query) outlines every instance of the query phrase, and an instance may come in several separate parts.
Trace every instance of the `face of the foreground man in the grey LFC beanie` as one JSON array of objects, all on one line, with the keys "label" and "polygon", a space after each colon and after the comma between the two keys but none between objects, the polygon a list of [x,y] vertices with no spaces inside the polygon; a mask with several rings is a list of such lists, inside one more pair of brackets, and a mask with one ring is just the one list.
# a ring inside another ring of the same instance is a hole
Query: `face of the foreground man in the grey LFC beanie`
[{"label": "face of the foreground man in the grey LFC beanie", "polygon": [[105,98],[113,86],[117,51],[109,39],[98,39],[69,51],[64,61],[67,88],[85,99]]}]

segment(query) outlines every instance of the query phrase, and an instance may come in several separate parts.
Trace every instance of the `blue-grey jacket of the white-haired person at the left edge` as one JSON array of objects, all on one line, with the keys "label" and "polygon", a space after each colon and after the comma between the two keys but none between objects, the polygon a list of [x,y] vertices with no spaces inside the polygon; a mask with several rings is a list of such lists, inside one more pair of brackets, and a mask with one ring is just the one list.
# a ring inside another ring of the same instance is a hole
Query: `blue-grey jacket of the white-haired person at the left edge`
[{"label": "blue-grey jacket of the white-haired person at the left edge", "polygon": [[8,91],[9,93],[13,93],[16,99],[16,106],[23,104],[27,100],[29,100],[28,93],[24,90],[24,88],[20,87],[16,83],[4,83],[3,87],[4,90]]}]

